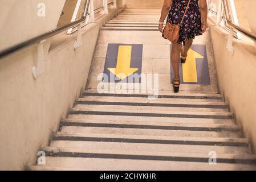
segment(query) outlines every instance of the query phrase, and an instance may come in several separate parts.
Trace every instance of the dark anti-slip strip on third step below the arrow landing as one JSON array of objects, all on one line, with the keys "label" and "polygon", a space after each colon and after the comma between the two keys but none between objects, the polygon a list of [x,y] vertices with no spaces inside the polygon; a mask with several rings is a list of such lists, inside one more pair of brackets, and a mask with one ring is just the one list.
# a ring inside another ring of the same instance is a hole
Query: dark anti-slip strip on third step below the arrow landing
[{"label": "dark anti-slip strip on third step below the arrow landing", "polygon": [[70,110],[69,114],[84,115],[127,115],[138,117],[169,117],[169,118],[209,118],[209,119],[234,119],[232,115],[194,115],[194,114],[164,114],[164,113],[123,113],[123,112],[104,112],[104,111],[84,111]]}]

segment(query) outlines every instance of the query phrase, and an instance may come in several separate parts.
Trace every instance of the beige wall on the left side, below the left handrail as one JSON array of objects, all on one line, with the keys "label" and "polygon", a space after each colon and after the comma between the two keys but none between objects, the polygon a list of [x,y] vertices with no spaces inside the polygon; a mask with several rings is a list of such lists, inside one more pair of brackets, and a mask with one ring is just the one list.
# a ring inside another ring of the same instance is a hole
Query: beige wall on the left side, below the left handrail
[{"label": "beige wall on the left side, below the left handrail", "polygon": [[[67,40],[51,52],[48,52],[51,42],[47,40],[45,72],[36,80],[32,76],[35,46],[0,60],[0,170],[21,170],[35,164],[37,152],[48,144],[52,131],[58,129],[60,120],[66,117],[86,85],[100,24],[115,14],[111,10],[96,23],[83,27],[83,45],[76,51],[76,33],[67,35]],[[57,22],[50,24],[56,26]],[[38,28],[37,33],[43,30]],[[5,36],[11,34],[6,32]]]}]

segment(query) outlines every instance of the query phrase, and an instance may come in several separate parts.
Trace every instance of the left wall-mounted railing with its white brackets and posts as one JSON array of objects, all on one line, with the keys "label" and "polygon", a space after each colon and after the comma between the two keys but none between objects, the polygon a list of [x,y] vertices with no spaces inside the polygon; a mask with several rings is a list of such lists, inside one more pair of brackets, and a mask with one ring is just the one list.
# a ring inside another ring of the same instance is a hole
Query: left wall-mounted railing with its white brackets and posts
[{"label": "left wall-mounted railing with its white brackets and posts", "polygon": [[[44,52],[43,52],[43,42],[52,36],[60,34],[61,32],[67,31],[68,34],[72,34],[75,31],[78,31],[78,35],[74,44],[74,49],[77,49],[79,46],[82,45],[82,31],[81,28],[86,26],[86,24],[90,22],[94,22],[94,14],[97,12],[95,11],[94,2],[101,1],[103,3],[103,11],[102,13],[108,13],[108,6],[112,3],[112,8],[116,8],[116,0],[85,0],[83,6],[82,17],[78,20],[72,19],[71,23],[67,23],[62,27],[55,28],[49,32],[46,32],[42,35],[36,36],[35,38],[26,40],[25,42],[19,43],[13,47],[6,48],[0,51],[0,61],[3,57],[9,56],[21,49],[37,45],[37,60],[36,66],[32,68],[32,73],[34,78],[36,78],[40,73],[44,72]],[[81,2],[81,1],[80,1]],[[80,5],[77,5],[79,7]],[[76,9],[77,10],[77,9]],[[76,12],[75,10],[75,12]],[[77,14],[74,12],[74,17]],[[77,12],[76,12],[77,13]]]}]

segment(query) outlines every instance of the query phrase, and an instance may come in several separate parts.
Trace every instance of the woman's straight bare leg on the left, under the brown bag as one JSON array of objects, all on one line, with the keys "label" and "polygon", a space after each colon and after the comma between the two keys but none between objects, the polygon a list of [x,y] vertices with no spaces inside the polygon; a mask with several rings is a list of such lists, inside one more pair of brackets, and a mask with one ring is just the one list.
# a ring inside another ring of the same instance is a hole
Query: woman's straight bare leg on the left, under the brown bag
[{"label": "woman's straight bare leg on the left, under the brown bag", "polygon": [[[172,44],[172,53],[170,54],[170,59],[172,60],[172,67],[174,72],[174,79],[180,80],[180,52],[181,44]],[[174,84],[179,84],[179,82],[174,82]]]}]

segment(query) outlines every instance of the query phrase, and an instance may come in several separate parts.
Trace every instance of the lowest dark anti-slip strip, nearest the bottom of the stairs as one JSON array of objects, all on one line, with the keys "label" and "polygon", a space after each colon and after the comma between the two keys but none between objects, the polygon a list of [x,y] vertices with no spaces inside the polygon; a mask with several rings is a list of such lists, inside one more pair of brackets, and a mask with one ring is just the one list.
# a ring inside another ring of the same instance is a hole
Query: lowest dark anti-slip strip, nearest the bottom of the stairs
[{"label": "lowest dark anti-slip strip, nearest the bottom of the stairs", "polygon": [[[193,158],[181,156],[151,156],[151,155],[123,155],[123,154],[94,154],[82,152],[48,152],[46,156],[70,158],[101,158],[101,159],[132,159],[132,160],[161,160],[173,162],[200,162],[209,163],[209,158]],[[229,164],[256,164],[255,159],[225,159],[217,158],[217,163]]]}]

